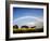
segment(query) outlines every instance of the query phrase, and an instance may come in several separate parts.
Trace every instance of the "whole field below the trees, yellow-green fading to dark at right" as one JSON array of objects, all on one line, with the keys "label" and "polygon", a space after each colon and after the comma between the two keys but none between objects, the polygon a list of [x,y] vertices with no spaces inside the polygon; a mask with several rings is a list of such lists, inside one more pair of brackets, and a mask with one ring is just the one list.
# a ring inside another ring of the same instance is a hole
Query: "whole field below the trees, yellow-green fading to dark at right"
[{"label": "whole field below the trees, yellow-green fading to dark at right", "polygon": [[26,33],[26,32],[43,32],[43,28],[15,28],[13,27],[13,33]]}]

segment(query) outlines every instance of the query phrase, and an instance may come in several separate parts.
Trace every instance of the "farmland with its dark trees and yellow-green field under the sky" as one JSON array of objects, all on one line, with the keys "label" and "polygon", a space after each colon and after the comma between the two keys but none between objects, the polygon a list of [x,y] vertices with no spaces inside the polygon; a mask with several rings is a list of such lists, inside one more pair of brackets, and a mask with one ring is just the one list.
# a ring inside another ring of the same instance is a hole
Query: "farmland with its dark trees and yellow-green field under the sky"
[{"label": "farmland with its dark trees and yellow-green field under the sky", "polygon": [[43,27],[41,29],[36,29],[36,26],[34,27],[28,26],[18,27],[17,25],[13,26],[13,33],[26,33],[26,32],[43,32]]}]

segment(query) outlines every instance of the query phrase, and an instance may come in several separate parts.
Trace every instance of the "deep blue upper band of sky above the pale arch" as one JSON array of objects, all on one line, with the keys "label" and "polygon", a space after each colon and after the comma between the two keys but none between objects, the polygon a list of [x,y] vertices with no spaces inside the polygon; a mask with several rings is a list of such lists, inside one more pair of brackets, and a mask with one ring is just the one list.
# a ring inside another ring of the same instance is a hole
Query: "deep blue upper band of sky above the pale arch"
[{"label": "deep blue upper band of sky above the pale arch", "polygon": [[17,18],[21,16],[43,16],[42,9],[28,9],[28,8],[14,8],[13,9],[13,17]]}]

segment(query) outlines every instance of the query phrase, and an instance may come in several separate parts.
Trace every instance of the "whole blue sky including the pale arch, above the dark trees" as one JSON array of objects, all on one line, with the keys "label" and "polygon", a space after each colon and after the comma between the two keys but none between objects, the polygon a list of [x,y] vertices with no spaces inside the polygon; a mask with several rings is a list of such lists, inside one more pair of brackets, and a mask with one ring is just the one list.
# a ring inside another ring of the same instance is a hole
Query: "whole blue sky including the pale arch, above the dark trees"
[{"label": "whole blue sky including the pale arch, above the dark trees", "polygon": [[13,25],[34,25],[37,20],[42,22],[42,17],[43,9],[13,8]]}]

